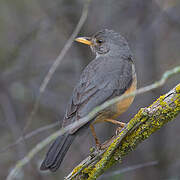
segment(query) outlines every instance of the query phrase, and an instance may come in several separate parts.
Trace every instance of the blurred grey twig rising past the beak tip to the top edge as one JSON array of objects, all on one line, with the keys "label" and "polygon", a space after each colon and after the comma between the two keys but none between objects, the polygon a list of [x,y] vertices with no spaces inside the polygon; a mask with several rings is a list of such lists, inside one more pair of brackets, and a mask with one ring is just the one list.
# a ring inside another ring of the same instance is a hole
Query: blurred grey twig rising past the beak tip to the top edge
[{"label": "blurred grey twig rising past the beak tip to the top edge", "polygon": [[64,56],[66,55],[67,51],[70,49],[75,37],[78,35],[79,31],[81,30],[83,24],[85,23],[86,19],[87,19],[87,15],[88,15],[88,9],[89,9],[89,4],[90,4],[90,0],[86,0],[84,7],[83,7],[83,11],[82,11],[82,15],[79,19],[79,22],[74,30],[74,32],[72,33],[72,35],[70,36],[70,38],[68,39],[68,41],[66,42],[64,48],[62,49],[62,51],[60,52],[60,54],[58,55],[58,57],[56,58],[56,60],[54,61],[54,63],[52,64],[52,66],[49,69],[49,72],[47,73],[47,75],[45,76],[42,84],[40,85],[39,88],[39,96],[36,99],[36,102],[33,106],[33,109],[31,111],[31,114],[28,118],[28,121],[24,127],[23,132],[26,131],[26,129],[29,127],[32,118],[34,117],[34,115],[36,114],[38,108],[39,108],[39,101],[49,83],[49,81],[51,80],[53,74],[55,73],[56,69],[58,68],[58,66],[60,65],[61,61],[63,60]]}]

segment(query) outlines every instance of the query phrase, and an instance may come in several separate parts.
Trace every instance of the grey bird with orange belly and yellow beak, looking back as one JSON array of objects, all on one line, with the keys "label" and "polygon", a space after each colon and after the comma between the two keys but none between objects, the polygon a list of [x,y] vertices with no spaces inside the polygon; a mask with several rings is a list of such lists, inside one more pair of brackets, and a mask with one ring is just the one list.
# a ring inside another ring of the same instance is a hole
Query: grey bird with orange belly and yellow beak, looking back
[{"label": "grey bird with orange belly and yellow beak, looking back", "polygon": [[[136,90],[137,86],[134,58],[127,40],[120,33],[104,29],[91,37],[78,37],[75,41],[90,46],[95,59],[80,75],[67,104],[62,127],[85,117],[105,101]],[[133,100],[134,97],[131,96],[119,101],[100,111],[89,122],[82,123],[57,137],[50,146],[40,169],[57,171],[75,137],[81,135],[81,132],[88,127],[92,131],[97,147],[100,147],[94,124],[111,122],[124,127],[125,123],[116,119],[128,109]]]}]

